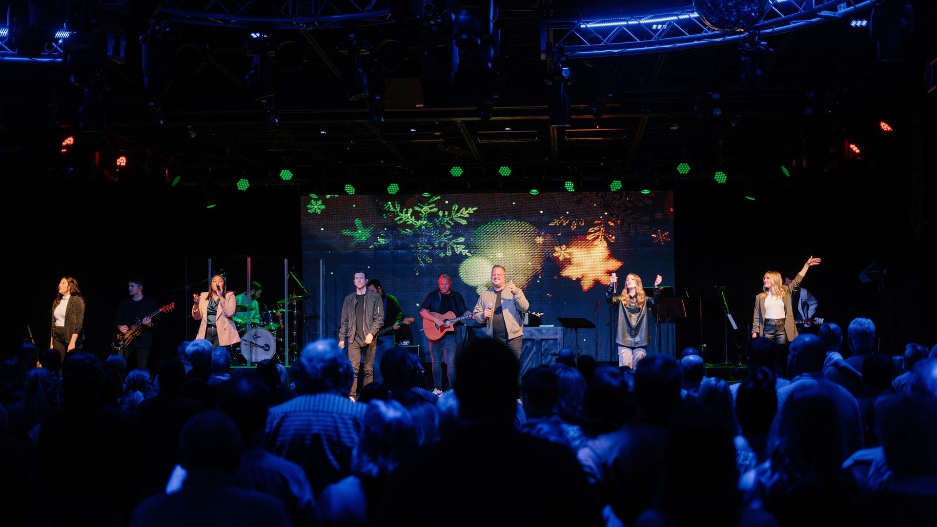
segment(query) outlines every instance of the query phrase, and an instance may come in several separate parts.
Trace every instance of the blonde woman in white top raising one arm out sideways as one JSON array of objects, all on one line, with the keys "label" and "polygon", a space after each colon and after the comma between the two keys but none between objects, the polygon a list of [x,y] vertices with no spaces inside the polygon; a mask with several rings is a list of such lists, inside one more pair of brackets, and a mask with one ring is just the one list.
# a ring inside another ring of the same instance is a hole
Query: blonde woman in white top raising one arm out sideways
[{"label": "blonde woman in white top raising one arm out sideways", "polygon": [[804,279],[807,270],[820,262],[819,258],[808,258],[794,281],[788,285],[784,285],[778,271],[765,273],[762,277],[764,291],[755,296],[755,312],[751,321],[752,339],[766,337],[774,340],[775,344],[788,344],[796,339],[796,311],[791,306],[791,296],[800,287],[800,280]]}]

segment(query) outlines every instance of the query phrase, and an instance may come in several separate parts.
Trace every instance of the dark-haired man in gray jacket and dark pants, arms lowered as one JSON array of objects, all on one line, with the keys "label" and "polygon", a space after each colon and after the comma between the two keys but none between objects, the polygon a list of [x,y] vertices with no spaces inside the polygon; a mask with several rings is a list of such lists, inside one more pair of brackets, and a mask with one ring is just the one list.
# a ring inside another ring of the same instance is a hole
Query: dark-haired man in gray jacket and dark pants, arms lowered
[{"label": "dark-haired man in gray jacket and dark pants, arms lowered", "polygon": [[378,349],[378,334],[384,324],[384,301],[380,295],[367,289],[367,273],[354,272],[355,292],[345,297],[342,303],[342,325],[338,330],[338,347],[349,342],[349,360],[354,369],[349,399],[355,399],[358,389],[358,368],[364,355],[364,385],[374,380],[374,354]]}]

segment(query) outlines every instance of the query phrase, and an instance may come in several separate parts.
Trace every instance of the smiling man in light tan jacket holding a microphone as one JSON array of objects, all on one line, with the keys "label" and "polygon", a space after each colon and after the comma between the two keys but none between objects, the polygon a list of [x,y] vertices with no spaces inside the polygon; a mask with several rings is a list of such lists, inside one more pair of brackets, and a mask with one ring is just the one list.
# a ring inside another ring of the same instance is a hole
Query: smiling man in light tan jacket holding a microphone
[{"label": "smiling man in light tan jacket holding a microphone", "polygon": [[524,319],[520,312],[530,309],[530,303],[521,288],[507,279],[503,265],[491,268],[491,284],[479,295],[472,314],[476,321],[485,324],[488,337],[507,344],[519,361],[524,338]]}]

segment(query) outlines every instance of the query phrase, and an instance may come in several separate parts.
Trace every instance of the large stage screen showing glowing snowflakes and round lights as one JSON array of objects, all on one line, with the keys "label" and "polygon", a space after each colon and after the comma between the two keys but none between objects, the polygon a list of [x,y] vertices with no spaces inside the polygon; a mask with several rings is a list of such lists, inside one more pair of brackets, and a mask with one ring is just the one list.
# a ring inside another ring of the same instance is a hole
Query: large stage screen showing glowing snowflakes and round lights
[{"label": "large stage screen showing glowing snowflakes and round lights", "polygon": [[[418,306],[439,275],[453,279],[472,309],[491,285],[492,265],[501,264],[530,311],[543,313],[542,325],[559,326],[558,317],[592,321],[596,329],[579,330],[578,353],[617,360],[609,352],[617,312],[604,302],[611,273],[621,284],[629,272],[646,287],[657,274],[663,285],[674,283],[670,191],[308,195],[302,202],[303,281],[312,286],[322,337],[337,336],[342,300],[363,269],[416,318],[412,340],[425,350]],[[566,331],[563,343],[573,340]],[[672,331],[664,328],[661,340],[652,351],[673,353]]]}]

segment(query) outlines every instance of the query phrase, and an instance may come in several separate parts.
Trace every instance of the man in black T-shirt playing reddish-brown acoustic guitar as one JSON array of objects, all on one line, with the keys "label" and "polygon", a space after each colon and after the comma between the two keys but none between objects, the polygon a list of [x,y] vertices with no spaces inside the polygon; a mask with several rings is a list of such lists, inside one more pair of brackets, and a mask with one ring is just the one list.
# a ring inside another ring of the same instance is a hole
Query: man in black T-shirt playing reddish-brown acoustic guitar
[{"label": "man in black T-shirt playing reddish-brown acoustic guitar", "polygon": [[[452,311],[456,317],[468,315],[471,311],[466,306],[462,294],[452,290],[453,279],[449,275],[440,275],[437,282],[439,289],[426,294],[423,304],[420,304],[420,316],[442,327],[444,321],[439,315]],[[456,333],[459,335],[456,336]],[[446,363],[446,376],[449,378],[449,387],[453,387],[455,379],[455,349],[458,341],[465,339],[465,330],[457,327],[455,331],[447,331],[439,339],[429,341],[429,354],[433,359],[433,393],[442,393],[442,362]]]}]

